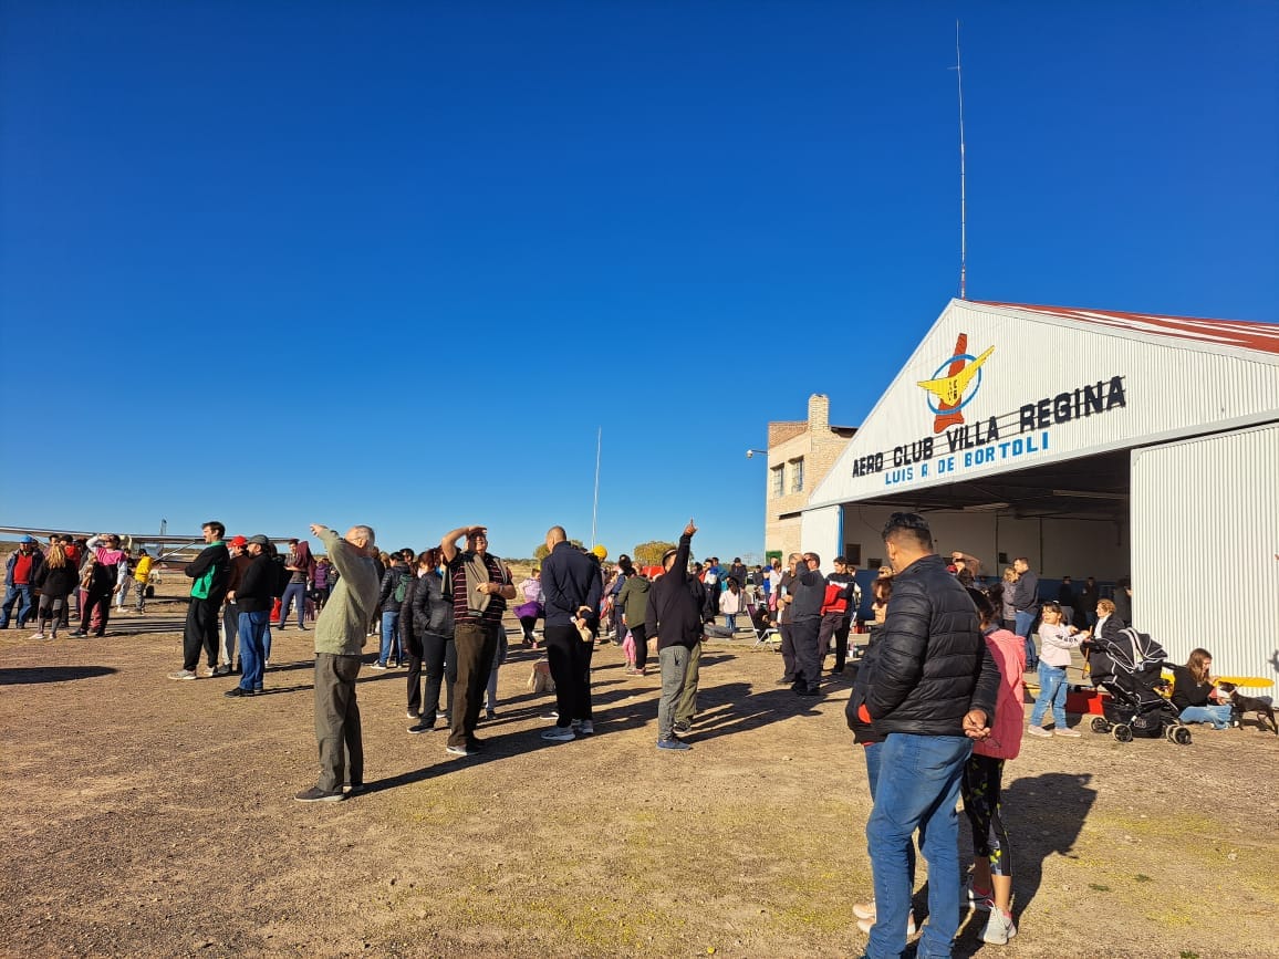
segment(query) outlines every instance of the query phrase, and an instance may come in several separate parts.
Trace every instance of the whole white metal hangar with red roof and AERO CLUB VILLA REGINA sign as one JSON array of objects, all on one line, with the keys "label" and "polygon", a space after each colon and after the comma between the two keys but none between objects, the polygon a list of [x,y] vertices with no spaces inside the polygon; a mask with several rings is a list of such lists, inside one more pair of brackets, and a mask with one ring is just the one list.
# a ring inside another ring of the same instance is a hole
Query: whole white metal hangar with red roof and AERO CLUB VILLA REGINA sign
[{"label": "whole white metal hangar with red roof and AERO CLUB VILLA REGINA sign", "polygon": [[877,556],[902,509],[987,574],[1131,572],[1173,659],[1275,678],[1279,326],[952,300],[813,490],[803,546]]}]

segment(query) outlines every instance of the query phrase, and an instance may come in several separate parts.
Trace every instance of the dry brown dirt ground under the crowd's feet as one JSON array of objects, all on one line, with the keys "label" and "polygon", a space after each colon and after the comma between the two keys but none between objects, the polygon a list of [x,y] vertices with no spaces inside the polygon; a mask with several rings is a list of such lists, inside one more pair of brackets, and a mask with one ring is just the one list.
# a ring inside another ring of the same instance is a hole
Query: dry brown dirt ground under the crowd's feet
[{"label": "dry brown dirt ground under the crowd's feet", "polygon": [[[302,806],[311,634],[276,634],[270,694],[228,699],[233,679],[165,678],[180,615],[0,634],[4,955],[861,954],[870,799],[843,678],[799,701],[776,653],[710,643],[693,749],[660,753],[656,676],[601,647],[597,734],[551,744],[517,644],[489,749],[459,760],[405,734],[403,671],[366,669],[370,788]],[[1279,737],[1082,728],[1008,765],[1019,935],[985,946],[975,913],[955,954],[1279,955]]]}]

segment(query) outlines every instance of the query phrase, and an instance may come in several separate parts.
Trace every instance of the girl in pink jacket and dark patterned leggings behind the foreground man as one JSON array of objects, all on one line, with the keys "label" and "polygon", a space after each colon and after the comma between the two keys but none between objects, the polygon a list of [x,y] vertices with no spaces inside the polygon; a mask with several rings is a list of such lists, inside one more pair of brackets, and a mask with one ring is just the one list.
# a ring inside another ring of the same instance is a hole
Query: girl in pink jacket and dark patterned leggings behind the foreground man
[{"label": "girl in pink jacket and dark patterned leggings behind the foreground man", "polygon": [[1008,830],[1000,815],[999,793],[1004,761],[1016,760],[1022,748],[1022,673],[1026,671],[1026,644],[1021,637],[999,628],[999,612],[990,598],[969,589],[990,655],[999,664],[1001,682],[995,702],[990,737],[976,743],[964,766],[959,790],[963,811],[972,823],[976,858],[968,880],[968,901],[990,913],[981,933],[986,942],[1004,945],[1017,935],[1013,924],[1013,862]]}]

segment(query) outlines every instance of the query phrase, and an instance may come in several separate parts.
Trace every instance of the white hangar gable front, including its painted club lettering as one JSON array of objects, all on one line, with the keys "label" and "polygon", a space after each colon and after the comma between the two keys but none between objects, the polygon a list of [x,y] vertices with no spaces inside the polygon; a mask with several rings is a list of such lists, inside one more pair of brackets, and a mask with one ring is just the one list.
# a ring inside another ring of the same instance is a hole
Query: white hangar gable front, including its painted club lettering
[{"label": "white hangar gable front, including its painted club lettering", "polygon": [[[981,363],[962,422],[943,427],[934,412],[940,402],[920,384],[954,372],[955,353]],[[1273,353],[952,300],[810,506],[1251,426],[1276,409]]]}]

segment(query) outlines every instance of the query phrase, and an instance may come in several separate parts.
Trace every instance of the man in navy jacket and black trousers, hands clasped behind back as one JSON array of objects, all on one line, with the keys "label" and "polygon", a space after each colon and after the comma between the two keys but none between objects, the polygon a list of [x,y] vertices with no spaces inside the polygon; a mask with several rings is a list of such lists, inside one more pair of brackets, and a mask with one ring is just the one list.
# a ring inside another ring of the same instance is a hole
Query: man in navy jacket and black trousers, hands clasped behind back
[{"label": "man in navy jacket and black trousers, hands clasped behind back", "polygon": [[546,659],[555,680],[559,716],[542,739],[563,743],[595,731],[591,717],[595,637],[590,630],[600,615],[604,577],[600,564],[570,543],[561,526],[546,531],[546,549],[549,554],[542,561]]}]

